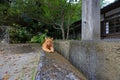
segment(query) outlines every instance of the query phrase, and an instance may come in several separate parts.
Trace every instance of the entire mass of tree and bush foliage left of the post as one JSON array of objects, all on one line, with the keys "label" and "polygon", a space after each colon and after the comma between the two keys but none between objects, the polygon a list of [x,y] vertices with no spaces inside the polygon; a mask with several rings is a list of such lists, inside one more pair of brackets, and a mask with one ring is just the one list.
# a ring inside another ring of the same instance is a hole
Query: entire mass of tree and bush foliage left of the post
[{"label": "entire mass of tree and bush foliage left of the post", "polygon": [[11,1],[0,4],[0,26],[12,26],[9,30],[11,43],[29,42],[33,35],[45,33],[45,30],[49,36],[61,38],[60,29],[53,30],[53,25],[60,28],[64,23],[63,29],[67,31],[67,26],[81,18],[81,0],[77,4],[66,0]]}]

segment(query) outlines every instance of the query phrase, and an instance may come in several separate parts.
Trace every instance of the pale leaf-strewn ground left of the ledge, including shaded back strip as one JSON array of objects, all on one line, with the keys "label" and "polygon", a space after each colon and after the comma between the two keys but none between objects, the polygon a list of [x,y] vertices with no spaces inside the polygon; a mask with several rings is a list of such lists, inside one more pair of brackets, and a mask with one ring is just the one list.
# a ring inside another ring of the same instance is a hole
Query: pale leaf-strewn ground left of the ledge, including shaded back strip
[{"label": "pale leaf-strewn ground left of the ledge, including shaded back strip", "polygon": [[34,80],[39,44],[0,44],[0,80]]}]

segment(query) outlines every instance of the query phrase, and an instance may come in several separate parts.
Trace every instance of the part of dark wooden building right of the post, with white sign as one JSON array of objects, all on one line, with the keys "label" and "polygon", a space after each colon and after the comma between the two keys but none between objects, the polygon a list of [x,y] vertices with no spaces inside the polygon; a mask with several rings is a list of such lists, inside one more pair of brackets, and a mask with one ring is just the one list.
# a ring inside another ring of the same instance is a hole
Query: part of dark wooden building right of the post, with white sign
[{"label": "part of dark wooden building right of the post, with white sign", "polygon": [[101,9],[101,37],[120,38],[120,0]]}]

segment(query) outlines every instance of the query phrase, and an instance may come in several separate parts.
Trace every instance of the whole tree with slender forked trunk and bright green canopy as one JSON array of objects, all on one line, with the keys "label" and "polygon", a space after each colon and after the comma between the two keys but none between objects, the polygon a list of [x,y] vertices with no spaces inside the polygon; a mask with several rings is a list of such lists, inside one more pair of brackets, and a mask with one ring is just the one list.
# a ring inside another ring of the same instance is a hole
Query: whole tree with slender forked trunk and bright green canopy
[{"label": "whole tree with slender forked trunk and bright green canopy", "polygon": [[76,4],[67,2],[67,0],[43,0],[42,4],[41,20],[59,29],[62,38],[65,39],[70,25],[81,18],[81,0]]}]

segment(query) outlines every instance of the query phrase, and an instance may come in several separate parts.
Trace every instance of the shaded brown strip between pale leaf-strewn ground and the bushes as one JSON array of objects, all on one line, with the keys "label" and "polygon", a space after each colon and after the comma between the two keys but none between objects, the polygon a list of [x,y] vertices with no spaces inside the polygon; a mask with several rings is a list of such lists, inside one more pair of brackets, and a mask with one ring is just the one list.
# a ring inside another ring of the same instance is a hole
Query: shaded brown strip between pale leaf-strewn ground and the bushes
[{"label": "shaded brown strip between pale leaf-strewn ground and the bushes", "polygon": [[38,52],[40,44],[2,44],[0,43],[0,51],[4,53],[29,53]]}]

